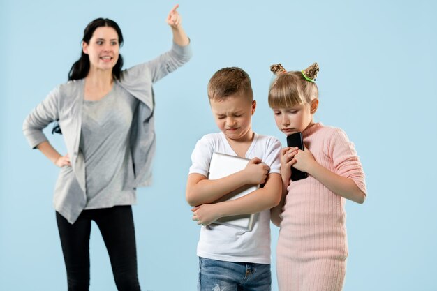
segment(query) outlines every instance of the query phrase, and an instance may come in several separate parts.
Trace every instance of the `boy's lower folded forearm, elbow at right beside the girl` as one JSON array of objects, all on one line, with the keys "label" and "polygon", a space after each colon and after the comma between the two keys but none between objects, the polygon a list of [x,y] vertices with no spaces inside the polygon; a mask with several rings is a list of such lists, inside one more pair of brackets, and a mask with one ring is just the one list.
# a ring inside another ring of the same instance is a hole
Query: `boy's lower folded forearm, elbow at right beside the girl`
[{"label": "boy's lower folded forearm, elbow at right beside the girl", "polygon": [[265,186],[235,200],[227,200],[214,204],[218,217],[254,214],[265,209],[276,207],[281,201],[281,174],[272,173],[267,176]]}]

